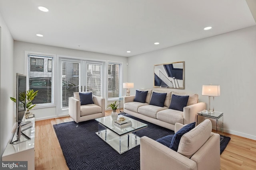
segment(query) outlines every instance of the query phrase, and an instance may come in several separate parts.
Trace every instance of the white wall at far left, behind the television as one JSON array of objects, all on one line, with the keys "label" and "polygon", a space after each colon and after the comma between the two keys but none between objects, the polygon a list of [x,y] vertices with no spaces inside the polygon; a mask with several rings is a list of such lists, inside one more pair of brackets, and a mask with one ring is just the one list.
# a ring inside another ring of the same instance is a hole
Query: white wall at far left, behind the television
[{"label": "white wall at far left, behind the television", "polygon": [[13,71],[13,39],[12,35],[2,15],[0,14],[1,27],[1,61],[0,61],[0,85],[1,85],[1,103],[0,103],[0,156],[12,137],[12,129],[15,124],[14,102],[10,96],[15,96],[15,73]]}]

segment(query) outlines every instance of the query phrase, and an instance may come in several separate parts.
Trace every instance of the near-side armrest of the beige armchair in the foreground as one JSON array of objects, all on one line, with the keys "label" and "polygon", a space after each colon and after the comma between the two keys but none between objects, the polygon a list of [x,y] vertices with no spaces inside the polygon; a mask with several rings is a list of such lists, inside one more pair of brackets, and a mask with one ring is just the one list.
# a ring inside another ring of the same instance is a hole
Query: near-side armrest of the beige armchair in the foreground
[{"label": "near-side armrest of the beige armchair in the foreground", "polygon": [[140,138],[140,169],[196,170],[196,162],[150,139]]}]

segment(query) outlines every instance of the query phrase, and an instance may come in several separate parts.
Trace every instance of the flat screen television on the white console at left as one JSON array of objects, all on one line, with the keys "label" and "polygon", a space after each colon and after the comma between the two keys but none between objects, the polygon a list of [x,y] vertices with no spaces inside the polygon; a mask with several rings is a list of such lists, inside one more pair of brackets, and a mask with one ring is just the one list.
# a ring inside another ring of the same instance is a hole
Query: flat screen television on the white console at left
[{"label": "flat screen television on the white console at left", "polygon": [[12,141],[13,144],[20,143],[21,135],[23,135],[26,140],[30,138],[22,133],[22,119],[26,111],[26,75],[16,73],[16,135]]}]

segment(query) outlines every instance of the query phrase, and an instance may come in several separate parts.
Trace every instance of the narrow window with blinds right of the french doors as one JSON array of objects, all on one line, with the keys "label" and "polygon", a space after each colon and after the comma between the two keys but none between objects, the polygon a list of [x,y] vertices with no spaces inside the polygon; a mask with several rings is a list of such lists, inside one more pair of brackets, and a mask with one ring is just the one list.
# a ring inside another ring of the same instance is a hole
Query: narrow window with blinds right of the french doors
[{"label": "narrow window with blinds right of the french doors", "polygon": [[108,98],[121,96],[121,64],[108,63]]}]

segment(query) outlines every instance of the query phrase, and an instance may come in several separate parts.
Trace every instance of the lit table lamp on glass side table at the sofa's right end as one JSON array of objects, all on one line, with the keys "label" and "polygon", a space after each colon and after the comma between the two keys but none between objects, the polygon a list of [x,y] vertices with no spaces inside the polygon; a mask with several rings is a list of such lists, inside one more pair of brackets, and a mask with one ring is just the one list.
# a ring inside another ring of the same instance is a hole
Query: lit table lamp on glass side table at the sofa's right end
[{"label": "lit table lamp on glass side table at the sofa's right end", "polygon": [[[214,113],[214,96],[220,96],[220,85],[203,85],[202,95],[209,96],[209,109],[208,113]],[[211,105],[212,100],[212,105]]]}]

